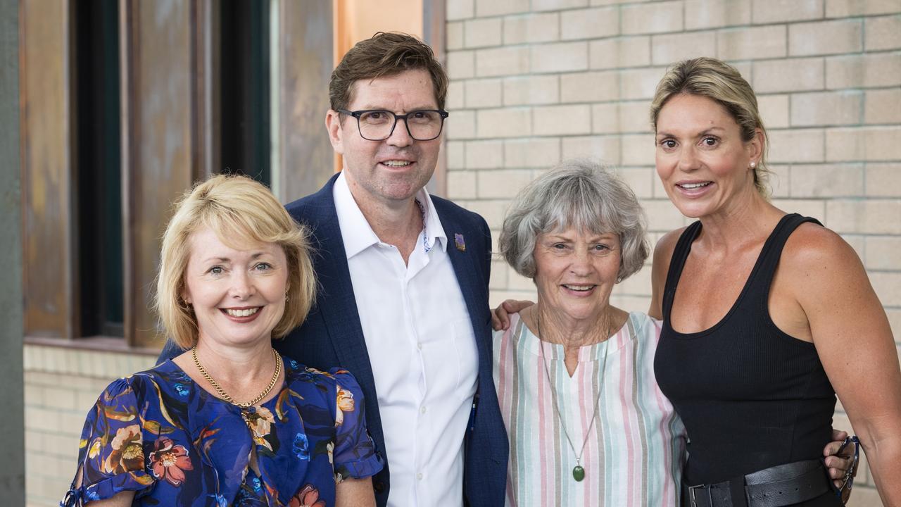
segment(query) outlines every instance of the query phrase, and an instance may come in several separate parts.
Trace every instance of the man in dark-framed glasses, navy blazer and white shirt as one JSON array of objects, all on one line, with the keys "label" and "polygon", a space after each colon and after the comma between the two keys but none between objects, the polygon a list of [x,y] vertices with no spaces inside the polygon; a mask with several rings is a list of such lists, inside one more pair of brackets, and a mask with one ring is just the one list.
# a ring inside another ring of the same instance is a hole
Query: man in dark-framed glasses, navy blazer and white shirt
[{"label": "man in dark-framed glasses, navy blazer and white shirt", "polygon": [[342,171],[287,205],[313,233],[322,290],[304,325],[277,346],[356,376],[387,457],[373,477],[380,506],[504,504],[491,235],[482,217],[424,189],[441,149],[447,87],[422,41],[378,33],[359,42],[332,72],[325,116]]}]

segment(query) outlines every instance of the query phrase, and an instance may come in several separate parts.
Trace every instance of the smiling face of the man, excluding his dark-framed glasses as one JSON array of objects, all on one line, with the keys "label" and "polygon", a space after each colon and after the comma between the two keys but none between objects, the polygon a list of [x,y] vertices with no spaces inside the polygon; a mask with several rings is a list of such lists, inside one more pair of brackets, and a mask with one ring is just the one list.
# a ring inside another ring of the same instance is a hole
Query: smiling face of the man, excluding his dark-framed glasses
[{"label": "smiling face of the man, excluding his dark-framed glasses", "polygon": [[[405,70],[353,84],[348,110],[384,109],[403,115],[438,109],[432,78],[425,69]],[[330,110],[325,126],[335,152],[343,156],[343,170],[353,197],[386,203],[406,201],[422,189],[435,170],[441,137],[415,141],[398,120],[384,141],[368,141],[359,134],[357,119]]]}]

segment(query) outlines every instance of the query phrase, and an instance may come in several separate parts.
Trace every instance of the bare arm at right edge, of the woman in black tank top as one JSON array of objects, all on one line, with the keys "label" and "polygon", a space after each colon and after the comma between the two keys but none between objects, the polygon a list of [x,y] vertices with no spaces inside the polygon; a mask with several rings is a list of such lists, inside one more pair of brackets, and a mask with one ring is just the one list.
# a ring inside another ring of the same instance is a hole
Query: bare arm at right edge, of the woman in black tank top
[{"label": "bare arm at right edge, of the woman in black tank top", "polygon": [[808,227],[789,238],[786,253],[796,300],[879,496],[901,505],[901,481],[891,479],[901,463],[901,368],[885,310],[857,253],[832,231]]}]

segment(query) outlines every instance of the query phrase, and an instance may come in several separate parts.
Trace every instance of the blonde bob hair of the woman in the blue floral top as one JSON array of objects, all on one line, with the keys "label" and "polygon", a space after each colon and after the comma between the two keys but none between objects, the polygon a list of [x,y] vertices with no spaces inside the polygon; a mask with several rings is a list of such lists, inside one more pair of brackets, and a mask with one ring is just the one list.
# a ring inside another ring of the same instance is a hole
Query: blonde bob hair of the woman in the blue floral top
[{"label": "blonde bob hair of the woman in the blue floral top", "polygon": [[288,264],[285,314],[272,330],[281,338],[299,326],[313,306],[316,279],[304,226],[297,224],[272,192],[246,176],[217,175],[197,183],[175,204],[163,234],[155,307],[168,336],[183,349],[197,345],[194,309],[181,299],[191,254],[191,235],[209,227],[232,248],[275,243]]}]

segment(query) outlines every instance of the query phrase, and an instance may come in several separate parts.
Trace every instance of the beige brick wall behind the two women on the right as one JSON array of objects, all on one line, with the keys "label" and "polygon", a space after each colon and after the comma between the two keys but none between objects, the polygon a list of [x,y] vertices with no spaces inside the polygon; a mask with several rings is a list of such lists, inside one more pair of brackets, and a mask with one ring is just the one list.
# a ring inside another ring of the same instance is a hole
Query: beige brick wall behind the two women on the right
[{"label": "beige brick wall behind the two women on the right", "polygon": [[[561,157],[613,164],[651,239],[687,223],[653,169],[648,106],[675,60],[728,60],[771,139],[773,200],[860,253],[901,338],[901,2],[898,0],[448,0],[448,196],[494,235],[518,189]],[[474,33],[487,27],[490,33]],[[473,96],[470,97],[470,94]],[[490,124],[486,124],[490,122]],[[455,124],[460,124],[455,125]],[[647,309],[647,267],[614,304]],[[501,260],[491,300],[534,298]],[[901,345],[899,345],[901,346]],[[836,425],[850,428],[837,414]],[[879,505],[860,474],[851,505]]]}]

